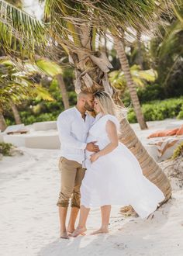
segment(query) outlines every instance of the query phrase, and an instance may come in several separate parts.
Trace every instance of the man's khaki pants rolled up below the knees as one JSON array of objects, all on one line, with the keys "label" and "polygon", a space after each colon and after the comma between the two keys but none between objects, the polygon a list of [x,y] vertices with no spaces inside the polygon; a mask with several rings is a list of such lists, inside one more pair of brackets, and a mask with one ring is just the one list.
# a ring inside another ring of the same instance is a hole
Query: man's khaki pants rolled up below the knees
[{"label": "man's khaki pants rolled up below the knees", "polygon": [[80,208],[80,187],[85,176],[85,168],[77,161],[60,157],[59,169],[61,173],[61,189],[57,206],[68,207],[71,199],[71,207]]}]

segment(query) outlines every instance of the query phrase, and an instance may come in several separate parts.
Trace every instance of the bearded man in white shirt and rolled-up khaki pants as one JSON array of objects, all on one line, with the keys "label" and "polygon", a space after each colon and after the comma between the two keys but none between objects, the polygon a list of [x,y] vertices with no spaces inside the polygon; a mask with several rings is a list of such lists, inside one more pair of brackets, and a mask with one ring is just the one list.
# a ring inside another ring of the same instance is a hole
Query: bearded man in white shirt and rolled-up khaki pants
[{"label": "bearded man in white shirt and rolled-up khaki pants", "polygon": [[[85,176],[85,150],[98,152],[96,141],[86,144],[88,130],[94,118],[86,111],[93,111],[94,97],[89,92],[80,92],[74,108],[61,112],[57,129],[61,143],[59,168],[61,189],[57,202],[60,216],[60,238],[68,239],[74,232],[75,220],[80,208],[80,187]],[[67,208],[71,199],[71,215],[66,229]]]}]

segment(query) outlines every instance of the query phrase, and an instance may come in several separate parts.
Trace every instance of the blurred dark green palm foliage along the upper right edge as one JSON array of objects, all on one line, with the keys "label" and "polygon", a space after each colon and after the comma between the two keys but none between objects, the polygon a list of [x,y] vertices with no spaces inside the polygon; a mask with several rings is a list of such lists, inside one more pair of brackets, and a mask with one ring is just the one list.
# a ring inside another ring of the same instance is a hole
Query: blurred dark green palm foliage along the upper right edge
[{"label": "blurred dark green palm foliage along the upper right edge", "polygon": [[[178,74],[182,67],[183,57],[183,2],[179,8],[173,6],[175,17],[167,20],[166,29],[163,29],[161,43],[157,44],[157,71],[161,74],[159,81],[164,87],[168,88],[167,84],[174,88],[174,83],[171,77],[175,77],[178,84]],[[162,28],[161,28],[162,29]],[[157,40],[158,41],[158,40]],[[165,65],[166,64],[166,65]],[[175,74],[175,75],[174,75]],[[182,78],[182,76],[181,76]]]}]

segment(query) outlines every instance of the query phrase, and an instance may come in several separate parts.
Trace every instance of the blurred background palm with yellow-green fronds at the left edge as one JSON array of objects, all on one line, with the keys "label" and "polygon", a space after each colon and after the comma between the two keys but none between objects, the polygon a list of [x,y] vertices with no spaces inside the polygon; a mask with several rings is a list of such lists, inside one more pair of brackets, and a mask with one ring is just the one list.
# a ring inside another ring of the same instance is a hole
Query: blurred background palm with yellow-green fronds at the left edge
[{"label": "blurred background palm with yellow-green fronds at the left edge", "polygon": [[[37,72],[35,66],[26,63],[26,71],[19,71],[15,64],[8,57],[0,59],[0,109],[1,109],[1,130],[5,130],[5,119],[3,109],[12,109],[16,124],[21,123],[16,105],[27,98],[34,98],[39,95],[41,99],[52,101],[47,90],[33,81],[33,74]],[[36,73],[37,74],[37,73]]]}]

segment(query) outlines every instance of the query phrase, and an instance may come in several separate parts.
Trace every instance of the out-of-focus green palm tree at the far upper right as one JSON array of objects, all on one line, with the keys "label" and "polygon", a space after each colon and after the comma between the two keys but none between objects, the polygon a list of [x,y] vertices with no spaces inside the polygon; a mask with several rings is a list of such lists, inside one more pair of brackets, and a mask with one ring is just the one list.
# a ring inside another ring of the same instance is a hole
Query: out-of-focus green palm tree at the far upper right
[{"label": "out-of-focus green palm tree at the far upper right", "polygon": [[183,3],[172,5],[174,16],[163,16],[159,33],[150,40],[150,57],[157,70],[157,84],[164,88],[167,98],[183,93]]}]

